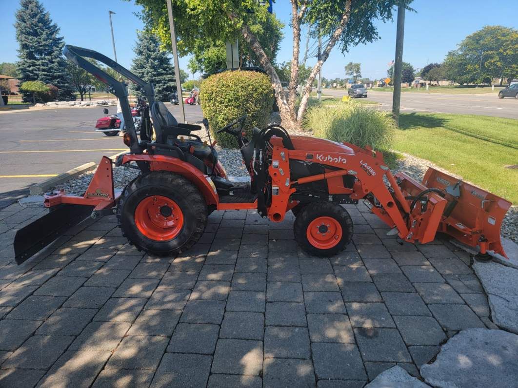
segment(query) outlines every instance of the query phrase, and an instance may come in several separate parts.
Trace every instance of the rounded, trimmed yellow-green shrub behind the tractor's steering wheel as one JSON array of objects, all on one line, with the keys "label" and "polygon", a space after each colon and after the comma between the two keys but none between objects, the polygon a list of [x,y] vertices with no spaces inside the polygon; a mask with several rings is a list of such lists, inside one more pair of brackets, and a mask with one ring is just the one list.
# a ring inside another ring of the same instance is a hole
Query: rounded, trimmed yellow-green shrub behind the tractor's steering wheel
[{"label": "rounded, trimmed yellow-green shrub behind the tractor's steering wheel", "polygon": [[248,114],[244,130],[268,124],[274,91],[268,77],[256,71],[224,71],[202,82],[200,100],[204,117],[214,139],[222,147],[237,147],[228,133],[215,133],[228,123]]}]

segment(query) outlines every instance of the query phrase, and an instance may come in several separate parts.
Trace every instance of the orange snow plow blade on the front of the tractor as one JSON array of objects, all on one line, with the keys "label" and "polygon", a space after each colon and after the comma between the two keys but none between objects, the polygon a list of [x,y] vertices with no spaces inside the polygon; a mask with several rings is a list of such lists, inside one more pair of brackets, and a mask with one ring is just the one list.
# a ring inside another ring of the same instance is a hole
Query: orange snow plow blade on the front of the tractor
[{"label": "orange snow plow blade on the front of the tractor", "polygon": [[431,167],[423,178],[423,186],[443,190],[448,201],[438,232],[479,246],[482,254],[494,251],[507,258],[500,242],[500,227],[511,202]]}]

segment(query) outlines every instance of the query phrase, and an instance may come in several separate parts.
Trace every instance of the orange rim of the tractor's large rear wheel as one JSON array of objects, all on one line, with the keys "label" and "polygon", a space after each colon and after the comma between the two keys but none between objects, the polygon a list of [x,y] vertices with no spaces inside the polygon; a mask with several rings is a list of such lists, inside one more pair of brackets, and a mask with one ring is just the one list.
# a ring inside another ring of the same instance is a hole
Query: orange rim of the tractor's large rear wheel
[{"label": "orange rim of the tractor's large rear wheel", "polygon": [[150,196],[137,205],[135,225],[140,233],[151,240],[172,240],[183,228],[183,213],[172,199]]}]

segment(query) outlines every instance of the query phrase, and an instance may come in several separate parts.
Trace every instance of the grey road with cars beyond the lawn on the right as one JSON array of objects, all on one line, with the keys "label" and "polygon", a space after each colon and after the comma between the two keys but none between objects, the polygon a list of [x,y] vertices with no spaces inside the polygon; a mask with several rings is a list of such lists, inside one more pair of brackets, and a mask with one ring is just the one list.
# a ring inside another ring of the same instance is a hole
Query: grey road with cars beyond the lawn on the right
[{"label": "grey road with cars beyond the lawn on the right", "polygon": [[[341,97],[347,95],[347,91],[323,89],[322,94]],[[367,95],[369,100],[381,102],[387,110],[392,109],[391,92],[368,92]],[[401,93],[401,112],[461,113],[518,118],[518,101],[514,98],[499,99],[492,93]]]}]

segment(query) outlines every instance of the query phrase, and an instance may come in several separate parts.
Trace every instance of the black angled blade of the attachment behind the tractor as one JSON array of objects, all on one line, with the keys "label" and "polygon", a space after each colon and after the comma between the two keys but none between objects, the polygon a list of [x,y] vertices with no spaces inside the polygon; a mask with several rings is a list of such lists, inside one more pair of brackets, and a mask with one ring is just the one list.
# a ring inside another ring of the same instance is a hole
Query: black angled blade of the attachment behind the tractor
[{"label": "black angled blade of the attachment behind the tractor", "polygon": [[50,208],[45,216],[20,229],[15,235],[18,264],[45,248],[63,232],[92,214],[93,206],[62,203]]}]

